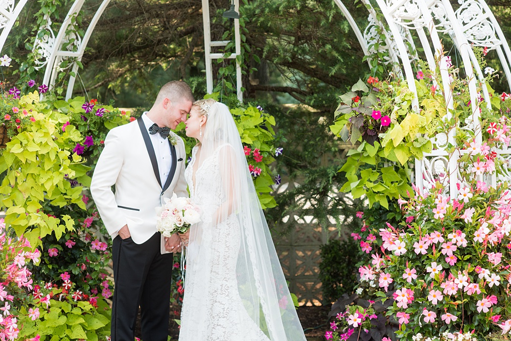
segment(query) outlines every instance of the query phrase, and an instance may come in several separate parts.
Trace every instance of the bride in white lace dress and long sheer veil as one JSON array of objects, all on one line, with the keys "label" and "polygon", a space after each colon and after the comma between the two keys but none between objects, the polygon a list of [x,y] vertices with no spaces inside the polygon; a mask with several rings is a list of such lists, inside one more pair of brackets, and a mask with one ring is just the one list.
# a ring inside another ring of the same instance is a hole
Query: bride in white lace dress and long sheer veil
[{"label": "bride in white lace dress and long sheer veil", "polygon": [[306,341],[229,108],[194,103],[185,171],[201,222],[187,246],[179,341]]}]

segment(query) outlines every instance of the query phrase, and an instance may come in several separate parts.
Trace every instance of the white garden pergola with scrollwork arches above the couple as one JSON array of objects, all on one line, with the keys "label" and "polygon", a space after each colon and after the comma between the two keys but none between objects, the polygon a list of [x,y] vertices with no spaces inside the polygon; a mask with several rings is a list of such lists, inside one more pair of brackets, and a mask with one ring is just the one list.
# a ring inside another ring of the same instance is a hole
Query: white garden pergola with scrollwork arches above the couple
[{"label": "white garden pergola with scrollwork arches above the couple", "polygon": [[[462,67],[469,77],[469,88],[473,117],[466,122],[464,128],[475,132],[477,142],[481,142],[481,127],[479,124],[479,110],[477,109],[477,82],[484,83],[484,75],[475,57],[473,47],[487,47],[488,50],[496,50],[501,67],[511,88],[511,51],[505,37],[500,29],[494,15],[484,0],[458,0],[461,6],[455,11],[449,0],[375,0],[383,16],[380,20],[376,10],[369,0],[362,0],[368,9],[368,24],[362,31],[351,13],[347,10],[341,0],[334,0],[354,30],[362,50],[369,58],[376,52],[370,48],[379,39],[380,31],[384,33],[385,41],[380,44],[380,49],[388,51],[388,59],[384,62],[393,69],[393,72],[407,81],[408,87],[415,94],[412,107],[419,110],[417,93],[414,83],[412,63],[417,59],[415,44],[420,44],[426,55],[426,61],[431,69],[435,69],[435,57],[440,58],[440,72],[442,74],[442,87],[445,93],[445,101],[448,108],[452,109],[452,95],[446,55],[443,55],[442,44],[439,34],[449,35],[461,56]],[[345,2],[346,0],[344,0]],[[96,14],[88,23],[83,37],[77,36],[69,27],[73,25],[72,18],[81,10],[85,0],[75,0],[69,9],[57,35],[54,34],[51,26],[51,19],[41,27],[40,38],[34,43],[34,52],[37,53],[37,68],[44,68],[43,83],[52,87],[55,84],[58,73],[61,71],[61,62],[72,59],[66,67],[71,67],[75,73],[78,71],[76,61],[83,57],[87,42],[96,27],[96,24],[108,6],[110,0],[103,0],[96,10]],[[21,9],[27,0],[0,0],[0,50],[2,50],[7,36],[18,17]],[[239,0],[234,1],[235,9],[239,10]],[[224,55],[213,53],[212,48],[225,46],[228,41],[212,41],[210,30],[210,10],[208,0],[202,0],[203,21],[204,21],[204,46],[206,60],[206,84],[207,91],[213,91],[212,61],[219,58],[236,58],[241,51],[239,20],[235,19],[235,53]],[[72,44],[67,42],[74,39]],[[66,46],[66,47],[63,47]],[[241,66],[237,63],[237,93],[242,100],[242,79]],[[75,77],[71,76],[68,81],[66,99],[72,95]],[[487,106],[491,107],[490,95],[485,86],[482,87],[482,94]],[[449,118],[448,112],[447,117]],[[452,133],[454,134],[454,132]],[[437,134],[432,138],[433,151],[423,160],[415,162],[415,184],[420,189],[428,189],[434,183],[435,177],[439,174],[448,174],[450,183],[450,194],[457,193],[456,182],[458,174],[456,170],[456,156],[448,158],[445,148],[448,143],[454,144],[453,135]],[[510,154],[507,150],[500,154],[507,158]],[[493,184],[497,182],[496,177],[490,179]],[[511,180],[511,177],[509,177]]]}]

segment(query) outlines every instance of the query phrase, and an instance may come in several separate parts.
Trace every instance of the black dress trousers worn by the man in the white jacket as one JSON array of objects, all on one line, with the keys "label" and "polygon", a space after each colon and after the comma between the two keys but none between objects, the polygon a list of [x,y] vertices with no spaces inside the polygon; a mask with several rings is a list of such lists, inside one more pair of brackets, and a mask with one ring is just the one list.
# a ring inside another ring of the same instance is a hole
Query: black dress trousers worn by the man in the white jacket
[{"label": "black dress trousers worn by the man in the white jacket", "polygon": [[160,233],[142,244],[115,237],[112,259],[112,341],[133,341],[139,306],[142,339],[167,341],[173,254],[160,253]]}]

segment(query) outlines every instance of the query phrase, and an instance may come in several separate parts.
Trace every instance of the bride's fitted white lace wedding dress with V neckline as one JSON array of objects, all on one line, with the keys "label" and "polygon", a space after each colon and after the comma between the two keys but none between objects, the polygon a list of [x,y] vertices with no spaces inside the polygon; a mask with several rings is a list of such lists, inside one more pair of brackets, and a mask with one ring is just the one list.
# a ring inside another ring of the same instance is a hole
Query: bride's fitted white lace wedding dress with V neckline
[{"label": "bride's fitted white lace wedding dress with V neckline", "polygon": [[[185,171],[191,199],[200,208],[202,221],[190,231],[179,341],[269,341],[261,329],[266,329],[264,317],[256,324],[245,307],[250,309],[250,305],[244,305],[240,296],[236,269],[241,227],[236,213],[219,224],[212,223],[226,199],[219,174],[218,152],[222,148],[231,146],[222,145],[204,158],[196,170],[195,184],[197,147]],[[253,295],[257,297],[257,293]]]}]

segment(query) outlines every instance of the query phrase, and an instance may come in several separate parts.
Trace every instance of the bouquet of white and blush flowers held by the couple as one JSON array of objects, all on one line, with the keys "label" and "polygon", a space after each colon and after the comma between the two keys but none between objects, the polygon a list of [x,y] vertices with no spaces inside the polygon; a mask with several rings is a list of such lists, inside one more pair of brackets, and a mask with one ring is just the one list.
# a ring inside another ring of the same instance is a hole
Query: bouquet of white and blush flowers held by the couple
[{"label": "bouquet of white and blush flowers held by the couple", "polygon": [[185,233],[190,225],[200,222],[199,209],[190,198],[165,198],[165,205],[156,207],[156,229],[165,237],[173,233]]}]

